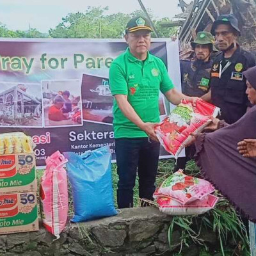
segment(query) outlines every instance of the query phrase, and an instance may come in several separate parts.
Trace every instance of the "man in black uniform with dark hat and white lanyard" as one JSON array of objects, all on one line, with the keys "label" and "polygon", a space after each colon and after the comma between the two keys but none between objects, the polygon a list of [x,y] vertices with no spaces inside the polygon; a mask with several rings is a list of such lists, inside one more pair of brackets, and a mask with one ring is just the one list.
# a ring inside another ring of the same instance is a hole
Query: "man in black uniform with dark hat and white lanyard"
[{"label": "man in black uniform with dark hat and white lanyard", "polygon": [[233,124],[250,106],[243,71],[255,66],[255,58],[237,44],[241,33],[234,15],[220,15],[212,24],[211,33],[221,52],[212,63],[211,91],[205,97],[221,109],[221,119]]}]

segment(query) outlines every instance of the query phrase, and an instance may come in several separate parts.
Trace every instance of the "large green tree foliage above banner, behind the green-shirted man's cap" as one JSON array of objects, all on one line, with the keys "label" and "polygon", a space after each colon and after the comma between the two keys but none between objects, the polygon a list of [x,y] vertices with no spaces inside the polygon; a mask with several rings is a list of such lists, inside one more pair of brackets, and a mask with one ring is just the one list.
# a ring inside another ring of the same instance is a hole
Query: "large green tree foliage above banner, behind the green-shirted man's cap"
[{"label": "large green tree foliage above banner, behind the green-shirted man's cap", "polygon": [[[106,11],[108,7],[99,6],[88,7],[84,13],[69,13],[56,28],[49,30],[49,34],[53,38],[122,38],[129,19],[138,15],[145,16],[141,10],[135,10],[130,14],[118,12],[111,15],[105,15]],[[170,21],[168,18],[156,20],[150,10],[148,14],[159,36],[170,37],[175,34],[175,29],[160,26],[161,22]],[[152,36],[156,37],[154,33]]]}]

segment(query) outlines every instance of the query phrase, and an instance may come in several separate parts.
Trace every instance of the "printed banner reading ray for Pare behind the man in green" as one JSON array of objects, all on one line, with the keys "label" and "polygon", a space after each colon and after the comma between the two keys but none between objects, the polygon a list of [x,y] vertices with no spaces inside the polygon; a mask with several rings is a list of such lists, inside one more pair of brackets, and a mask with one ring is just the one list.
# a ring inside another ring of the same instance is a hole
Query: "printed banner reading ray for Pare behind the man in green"
[{"label": "printed banner reading ray for Pare behind the man in green", "polygon": [[[108,73],[126,47],[123,40],[2,38],[0,133],[32,136],[37,167],[56,150],[81,154],[104,145],[115,160]],[[155,39],[150,52],[164,61],[180,90],[178,42]],[[159,109],[163,116],[170,111],[163,95]],[[161,157],[170,155],[161,148]]]}]

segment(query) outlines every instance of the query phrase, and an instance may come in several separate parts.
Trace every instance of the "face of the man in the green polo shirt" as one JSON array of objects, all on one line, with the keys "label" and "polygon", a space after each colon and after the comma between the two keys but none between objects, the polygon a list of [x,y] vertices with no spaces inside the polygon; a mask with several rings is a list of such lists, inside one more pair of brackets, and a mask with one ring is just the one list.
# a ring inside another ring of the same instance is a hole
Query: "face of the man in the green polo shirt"
[{"label": "face of the man in the green polo shirt", "polygon": [[150,31],[141,29],[125,35],[125,40],[130,47],[130,51],[135,56],[147,53],[150,48]]}]

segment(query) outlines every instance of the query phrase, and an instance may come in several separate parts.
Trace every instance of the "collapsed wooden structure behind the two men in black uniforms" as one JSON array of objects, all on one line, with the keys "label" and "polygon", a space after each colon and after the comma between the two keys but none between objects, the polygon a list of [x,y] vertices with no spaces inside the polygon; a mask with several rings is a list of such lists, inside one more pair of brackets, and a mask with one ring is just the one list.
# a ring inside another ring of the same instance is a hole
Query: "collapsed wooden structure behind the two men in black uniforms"
[{"label": "collapsed wooden structure behind the two men in black uniforms", "polygon": [[[241,44],[256,42],[256,0],[179,0],[182,13],[164,27],[179,26],[180,46],[183,48],[195,38],[198,31],[211,31],[212,22],[221,14],[233,13],[241,29]],[[256,44],[255,49],[256,51]]]}]

